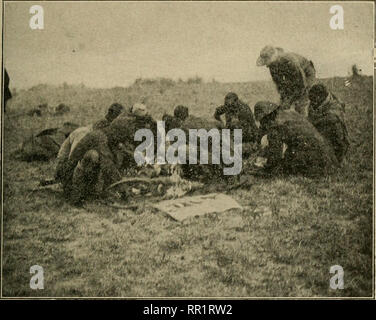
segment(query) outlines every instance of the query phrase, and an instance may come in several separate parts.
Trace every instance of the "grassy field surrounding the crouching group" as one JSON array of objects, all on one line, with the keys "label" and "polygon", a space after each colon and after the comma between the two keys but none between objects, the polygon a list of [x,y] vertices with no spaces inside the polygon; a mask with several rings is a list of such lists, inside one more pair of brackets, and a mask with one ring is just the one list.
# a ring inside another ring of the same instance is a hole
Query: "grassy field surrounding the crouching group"
[{"label": "grassy field surrounding the crouching group", "polygon": [[[244,211],[173,221],[143,205],[118,210],[96,202],[75,208],[59,190],[31,192],[54,163],[15,161],[22,140],[65,121],[99,120],[112,102],[144,102],[160,118],[177,104],[211,117],[228,91],[253,106],[278,101],[271,82],[138,82],[129,88],[40,85],[19,91],[4,126],[3,296],[308,297],[373,294],[373,87],[363,77],[323,80],[346,102],[351,147],[333,176],[255,177],[228,191]],[[71,112],[29,117],[40,103]],[[211,191],[216,186],[209,186]],[[44,290],[29,287],[32,265]],[[332,265],[344,290],[329,288]]]}]

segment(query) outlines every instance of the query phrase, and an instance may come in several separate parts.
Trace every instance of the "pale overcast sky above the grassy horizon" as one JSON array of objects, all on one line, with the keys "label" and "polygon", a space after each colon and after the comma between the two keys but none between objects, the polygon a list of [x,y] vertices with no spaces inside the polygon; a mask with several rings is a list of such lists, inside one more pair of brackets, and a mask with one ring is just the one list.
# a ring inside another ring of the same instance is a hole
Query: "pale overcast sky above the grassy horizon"
[{"label": "pale overcast sky above the grassy horizon", "polygon": [[[29,27],[31,5],[44,30]],[[11,87],[39,83],[127,86],[138,77],[201,76],[222,82],[270,79],[256,67],[267,44],[313,60],[318,77],[373,74],[372,3],[13,2],[5,3],[4,64]]]}]

